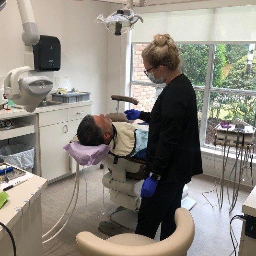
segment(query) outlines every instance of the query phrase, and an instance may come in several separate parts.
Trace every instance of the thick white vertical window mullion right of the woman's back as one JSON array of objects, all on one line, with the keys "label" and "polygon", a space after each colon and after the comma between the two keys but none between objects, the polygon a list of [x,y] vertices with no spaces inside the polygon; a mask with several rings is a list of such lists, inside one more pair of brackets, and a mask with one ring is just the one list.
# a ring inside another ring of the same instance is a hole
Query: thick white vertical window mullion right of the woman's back
[{"label": "thick white vertical window mullion right of the woman's back", "polygon": [[209,91],[210,91],[212,75],[213,75],[214,55],[215,55],[215,45],[209,45],[209,58],[208,58],[207,75],[206,75],[206,81],[205,81],[202,117],[201,117],[201,124],[200,124],[200,135],[199,135],[201,146],[205,144],[207,116],[208,116],[208,108],[209,108]]}]

